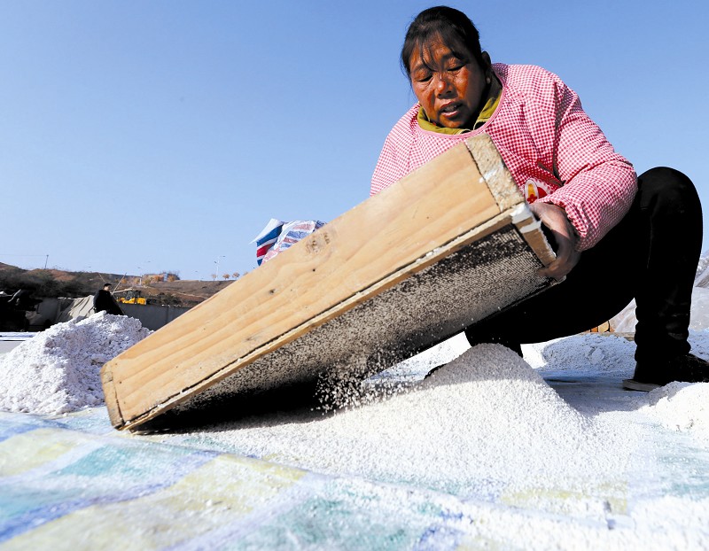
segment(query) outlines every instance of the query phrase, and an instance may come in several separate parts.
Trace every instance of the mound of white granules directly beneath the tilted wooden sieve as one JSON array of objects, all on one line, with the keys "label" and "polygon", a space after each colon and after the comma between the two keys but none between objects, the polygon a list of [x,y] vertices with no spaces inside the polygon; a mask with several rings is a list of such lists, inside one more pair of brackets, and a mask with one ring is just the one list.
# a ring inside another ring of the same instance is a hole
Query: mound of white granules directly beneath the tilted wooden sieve
[{"label": "mound of white granules directly beneath the tilted wooden sieve", "polygon": [[501,345],[479,345],[409,392],[308,419],[246,420],[193,436],[331,474],[494,499],[549,477],[623,472],[627,435],[581,415]]}]

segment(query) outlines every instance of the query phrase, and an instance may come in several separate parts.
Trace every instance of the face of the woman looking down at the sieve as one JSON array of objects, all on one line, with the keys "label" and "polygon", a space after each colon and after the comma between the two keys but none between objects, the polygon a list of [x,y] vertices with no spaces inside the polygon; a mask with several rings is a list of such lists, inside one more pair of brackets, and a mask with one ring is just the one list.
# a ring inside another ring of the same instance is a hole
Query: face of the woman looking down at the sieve
[{"label": "face of the woman looking down at the sieve", "polygon": [[472,128],[488,83],[485,71],[472,56],[456,58],[440,39],[425,45],[425,59],[419,50],[409,59],[411,88],[429,120],[445,128]]}]

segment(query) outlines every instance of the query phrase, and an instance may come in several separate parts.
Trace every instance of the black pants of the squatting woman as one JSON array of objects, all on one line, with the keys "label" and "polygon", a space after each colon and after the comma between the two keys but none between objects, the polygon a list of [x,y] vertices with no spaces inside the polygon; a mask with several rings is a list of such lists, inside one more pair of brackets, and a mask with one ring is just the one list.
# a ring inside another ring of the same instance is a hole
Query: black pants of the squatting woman
[{"label": "black pants of the squatting woman", "polygon": [[702,244],[702,210],[690,179],[672,168],[638,178],[633,206],[563,283],[472,325],[471,345],[519,345],[567,337],[609,320],[635,298],[635,360],[690,351],[692,286]]}]

